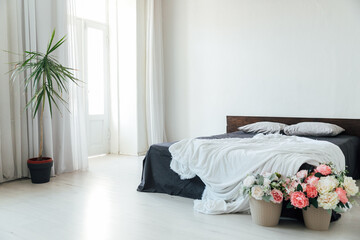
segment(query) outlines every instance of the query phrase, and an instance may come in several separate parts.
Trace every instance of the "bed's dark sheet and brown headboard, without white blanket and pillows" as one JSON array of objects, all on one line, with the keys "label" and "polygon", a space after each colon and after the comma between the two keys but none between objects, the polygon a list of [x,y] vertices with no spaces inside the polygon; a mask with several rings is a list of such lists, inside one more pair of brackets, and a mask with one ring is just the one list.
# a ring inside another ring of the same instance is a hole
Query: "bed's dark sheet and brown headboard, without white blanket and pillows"
[{"label": "bed's dark sheet and brown headboard, without white blanket and pillows", "polygon": [[[285,124],[299,122],[327,122],[339,125],[346,131],[336,137],[310,137],[337,145],[345,156],[349,175],[355,179],[360,178],[360,120],[359,119],[326,119],[326,118],[282,118],[282,117],[251,117],[227,116],[227,132],[225,134],[200,137],[200,139],[223,138],[252,138],[255,134],[238,131],[239,126],[259,122],[272,121]],[[201,199],[205,184],[199,177],[181,180],[179,175],[170,169],[172,156],[169,147],[174,143],[161,143],[152,145],[143,161],[143,173],[138,191],[157,192],[182,196],[192,199]],[[301,165],[300,169],[311,169],[309,164]],[[283,209],[282,216],[302,219],[301,211]],[[339,218],[333,213],[332,220]]]}]

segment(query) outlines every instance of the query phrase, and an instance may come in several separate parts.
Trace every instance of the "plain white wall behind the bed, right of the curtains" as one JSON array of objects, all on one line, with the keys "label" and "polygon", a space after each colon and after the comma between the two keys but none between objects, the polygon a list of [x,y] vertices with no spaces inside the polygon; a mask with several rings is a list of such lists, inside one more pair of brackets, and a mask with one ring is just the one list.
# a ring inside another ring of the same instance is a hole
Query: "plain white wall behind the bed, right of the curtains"
[{"label": "plain white wall behind the bed, right of the curtains", "polygon": [[359,0],[163,1],[170,140],[226,115],[360,118]]}]

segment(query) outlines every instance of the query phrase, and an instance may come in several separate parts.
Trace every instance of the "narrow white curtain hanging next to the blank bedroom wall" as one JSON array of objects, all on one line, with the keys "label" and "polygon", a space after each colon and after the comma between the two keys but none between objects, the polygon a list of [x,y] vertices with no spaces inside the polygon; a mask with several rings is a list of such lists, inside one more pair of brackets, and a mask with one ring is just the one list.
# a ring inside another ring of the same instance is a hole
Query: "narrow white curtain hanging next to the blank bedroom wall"
[{"label": "narrow white curtain hanging next to the blank bedroom wall", "polygon": [[146,125],[148,144],[165,142],[161,0],[146,2]]}]

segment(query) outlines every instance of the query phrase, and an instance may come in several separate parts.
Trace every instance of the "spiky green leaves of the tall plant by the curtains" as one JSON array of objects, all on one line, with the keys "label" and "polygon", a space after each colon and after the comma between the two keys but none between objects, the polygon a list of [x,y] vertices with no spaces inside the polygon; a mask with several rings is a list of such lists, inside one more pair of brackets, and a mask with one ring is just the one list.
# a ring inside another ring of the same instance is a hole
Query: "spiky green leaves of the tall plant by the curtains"
[{"label": "spiky green leaves of the tall plant by the curtains", "polygon": [[[45,102],[49,103],[52,116],[53,105],[60,111],[58,103],[66,106],[67,102],[62,98],[63,92],[68,92],[68,82],[78,84],[73,71],[74,69],[64,67],[51,54],[58,49],[66,40],[65,36],[53,44],[55,30],[52,32],[45,53],[25,51],[24,60],[16,63],[11,71],[11,80],[15,81],[20,73],[30,70],[30,74],[24,79],[25,89],[32,86],[35,93],[27,103],[26,108],[32,107],[33,117],[36,116],[39,107],[42,109]],[[58,101],[56,101],[58,100]]]}]

